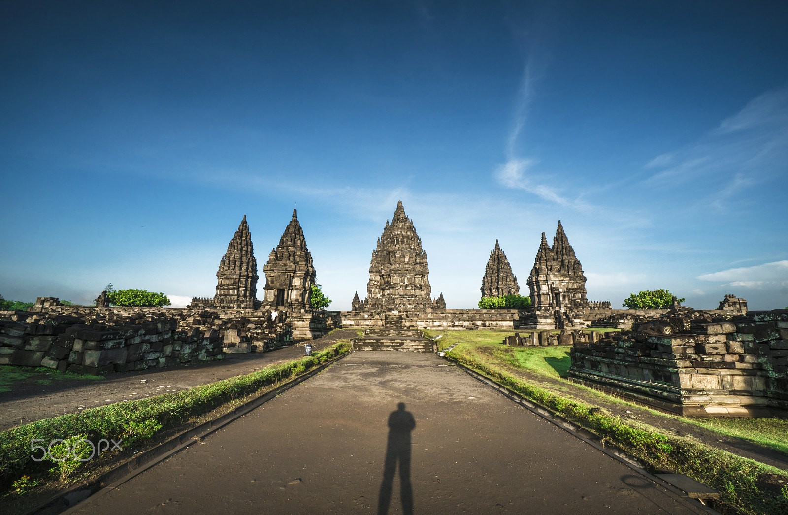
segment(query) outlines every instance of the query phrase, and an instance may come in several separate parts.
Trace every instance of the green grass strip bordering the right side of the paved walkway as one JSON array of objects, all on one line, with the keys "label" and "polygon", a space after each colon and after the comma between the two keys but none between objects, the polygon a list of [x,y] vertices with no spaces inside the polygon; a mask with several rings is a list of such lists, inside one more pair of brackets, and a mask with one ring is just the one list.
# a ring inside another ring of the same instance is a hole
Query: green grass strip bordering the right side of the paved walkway
[{"label": "green grass strip bordering the right side of the paved walkway", "polygon": [[[530,385],[492,365],[485,365],[452,350],[446,358],[465,365],[536,402],[586,430],[602,443],[618,446],[648,464],[653,472],[667,470],[685,474],[719,490],[723,513],[784,515],[788,513],[788,474],[748,458],[702,443],[649,431],[619,417]],[[784,481],[780,484],[779,480]]]}]

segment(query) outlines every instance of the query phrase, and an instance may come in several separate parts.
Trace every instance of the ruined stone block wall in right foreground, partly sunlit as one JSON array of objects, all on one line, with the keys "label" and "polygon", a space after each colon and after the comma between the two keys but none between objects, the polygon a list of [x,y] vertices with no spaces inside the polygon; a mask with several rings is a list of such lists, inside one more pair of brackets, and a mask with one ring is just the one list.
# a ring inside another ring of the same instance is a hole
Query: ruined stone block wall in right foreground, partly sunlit
[{"label": "ruined stone block wall in right foreground, partly sunlit", "polygon": [[575,344],[571,376],[694,416],[788,412],[788,309],[671,309],[635,331]]}]

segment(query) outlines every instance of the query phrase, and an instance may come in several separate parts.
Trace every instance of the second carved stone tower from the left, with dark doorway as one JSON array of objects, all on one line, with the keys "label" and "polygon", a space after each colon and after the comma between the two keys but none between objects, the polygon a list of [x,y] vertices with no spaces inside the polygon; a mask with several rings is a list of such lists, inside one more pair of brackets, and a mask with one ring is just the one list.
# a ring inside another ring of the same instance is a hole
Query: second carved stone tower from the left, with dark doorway
[{"label": "second carved stone tower from the left, with dark doorway", "polygon": [[314,265],[296,209],[293,209],[293,217],[284,229],[279,245],[271,250],[268,262],[262,269],[266,274],[266,296],[263,301],[266,306],[288,311],[312,309],[309,302],[315,280]]}]

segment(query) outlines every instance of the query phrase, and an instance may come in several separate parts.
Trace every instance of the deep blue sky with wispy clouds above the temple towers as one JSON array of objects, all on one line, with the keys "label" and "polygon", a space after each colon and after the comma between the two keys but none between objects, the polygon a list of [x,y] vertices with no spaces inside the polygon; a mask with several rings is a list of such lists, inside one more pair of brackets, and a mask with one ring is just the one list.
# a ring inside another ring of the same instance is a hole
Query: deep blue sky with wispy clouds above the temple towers
[{"label": "deep blue sky with wispy clouds above the temple towers", "polygon": [[559,219],[589,300],[788,306],[786,27],[785,2],[3,2],[0,294],[210,297],[243,215],[262,276],[297,202],[349,309],[402,200],[450,308],[496,239],[527,295]]}]

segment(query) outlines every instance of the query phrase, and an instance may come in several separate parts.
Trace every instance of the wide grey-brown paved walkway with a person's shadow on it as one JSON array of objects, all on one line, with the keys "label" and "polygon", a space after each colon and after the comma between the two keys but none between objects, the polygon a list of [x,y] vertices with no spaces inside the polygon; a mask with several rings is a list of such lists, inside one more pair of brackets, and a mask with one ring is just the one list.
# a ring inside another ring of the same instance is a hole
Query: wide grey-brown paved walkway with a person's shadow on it
[{"label": "wide grey-brown paved walkway with a person's shadow on it", "polygon": [[376,512],[704,513],[435,355],[385,351],[70,513]]}]

